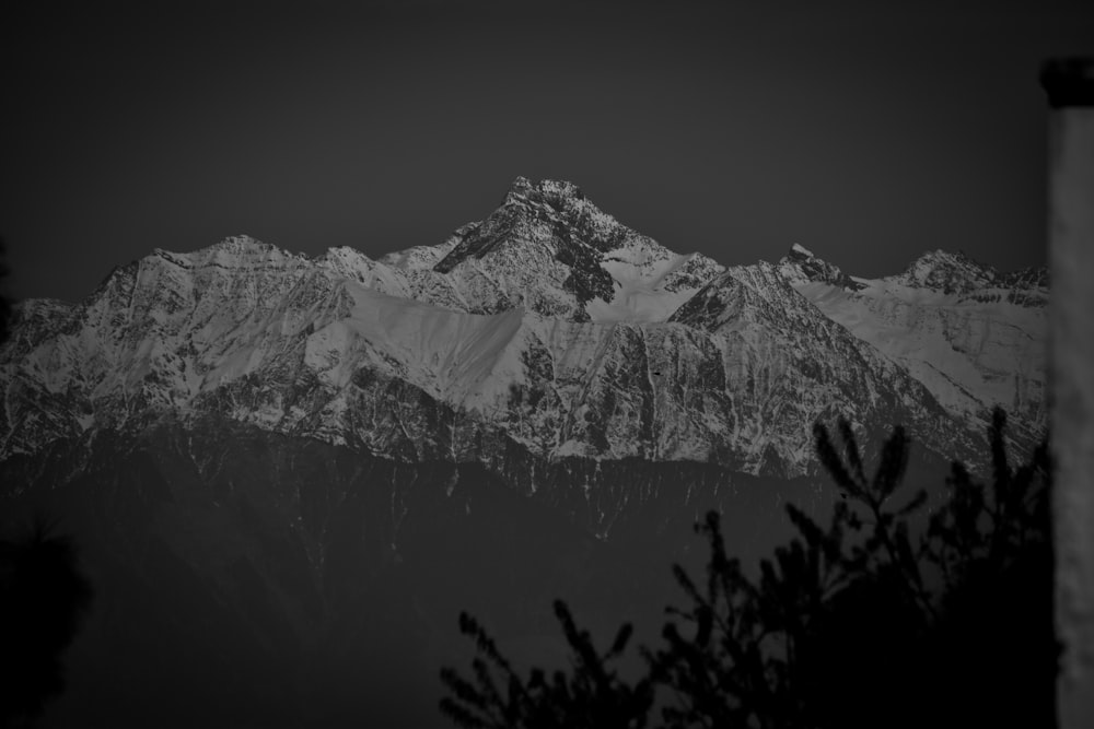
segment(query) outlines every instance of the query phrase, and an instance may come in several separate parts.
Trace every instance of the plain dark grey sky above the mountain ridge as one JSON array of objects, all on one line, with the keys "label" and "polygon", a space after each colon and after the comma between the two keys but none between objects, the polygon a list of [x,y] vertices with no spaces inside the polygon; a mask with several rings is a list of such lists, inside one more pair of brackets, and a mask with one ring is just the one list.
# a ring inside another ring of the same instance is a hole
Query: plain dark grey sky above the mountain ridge
[{"label": "plain dark grey sky above the mountain ridge", "polygon": [[10,1],[10,293],[238,233],[435,244],[517,175],[724,263],[1044,263],[1037,72],[1091,52],[1094,2],[894,5]]}]

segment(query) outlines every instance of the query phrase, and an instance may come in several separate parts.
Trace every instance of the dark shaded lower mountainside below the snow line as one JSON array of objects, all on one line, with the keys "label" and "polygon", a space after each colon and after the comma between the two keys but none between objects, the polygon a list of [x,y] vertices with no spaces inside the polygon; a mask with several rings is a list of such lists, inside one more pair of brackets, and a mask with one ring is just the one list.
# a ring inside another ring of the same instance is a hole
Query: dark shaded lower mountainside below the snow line
[{"label": "dark shaded lower mountainside below the snow line", "polygon": [[[789,534],[782,503],[818,513],[835,496],[694,462],[585,460],[533,465],[548,485],[527,498],[478,465],[199,425],[55,442],[0,467],[5,519],[59,519],[98,596],[47,720],[440,726],[437,668],[467,659],[459,610],[540,663],[561,655],[556,597],[593,628],[624,615],[652,639],[671,563],[702,557],[697,514],[722,509],[747,561]],[[607,540],[589,529],[603,512],[617,515]]]}]

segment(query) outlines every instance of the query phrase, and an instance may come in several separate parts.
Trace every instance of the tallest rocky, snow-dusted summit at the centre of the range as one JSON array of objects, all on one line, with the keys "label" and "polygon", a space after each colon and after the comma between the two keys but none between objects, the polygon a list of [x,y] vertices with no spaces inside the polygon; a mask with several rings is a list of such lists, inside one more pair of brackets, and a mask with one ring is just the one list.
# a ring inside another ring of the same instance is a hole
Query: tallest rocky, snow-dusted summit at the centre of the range
[{"label": "tallest rocky, snow-dusted summit at the centre of the range", "polygon": [[484,314],[664,321],[722,270],[632,231],[566,180],[516,178],[501,207],[453,238],[433,271]]}]

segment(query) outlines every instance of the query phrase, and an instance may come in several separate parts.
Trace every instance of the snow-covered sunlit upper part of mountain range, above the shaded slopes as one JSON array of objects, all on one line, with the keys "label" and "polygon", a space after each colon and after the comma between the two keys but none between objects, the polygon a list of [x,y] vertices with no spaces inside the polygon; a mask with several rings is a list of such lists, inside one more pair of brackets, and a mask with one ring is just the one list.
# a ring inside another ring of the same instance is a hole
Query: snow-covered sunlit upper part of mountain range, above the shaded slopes
[{"label": "snow-covered sunlit upper part of mountain range, above the shaded slopes", "polygon": [[865,280],[678,255],[570,183],[517,178],[445,243],[372,260],[246,236],[156,249],[79,304],[28,301],[3,350],[0,457],[217,414],[406,461],[815,471],[810,425],[900,422],[973,457],[994,404],[1044,433],[1044,270],[928,252]]}]

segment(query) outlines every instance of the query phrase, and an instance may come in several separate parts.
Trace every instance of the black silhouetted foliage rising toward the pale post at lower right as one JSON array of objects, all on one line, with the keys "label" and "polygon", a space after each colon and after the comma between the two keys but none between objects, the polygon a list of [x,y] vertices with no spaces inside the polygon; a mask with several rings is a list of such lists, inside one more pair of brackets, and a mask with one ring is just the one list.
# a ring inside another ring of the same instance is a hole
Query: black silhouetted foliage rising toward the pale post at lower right
[{"label": "black silhouetted foliage rising toward the pale post at lower right", "polygon": [[555,613],[570,669],[524,674],[478,621],[461,631],[469,674],[441,672],[442,712],[465,728],[1056,726],[1047,448],[1012,468],[1002,410],[989,428],[990,485],[954,462],[946,497],[908,494],[909,442],[894,430],[868,477],[850,426],[816,451],[841,489],[827,526],[787,505],[798,537],[745,575],[715,512],[696,525],[706,575],[680,566],[644,674],[618,670],[632,628],[606,649]]}]

